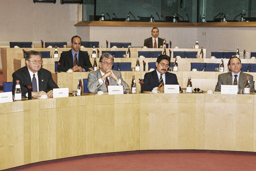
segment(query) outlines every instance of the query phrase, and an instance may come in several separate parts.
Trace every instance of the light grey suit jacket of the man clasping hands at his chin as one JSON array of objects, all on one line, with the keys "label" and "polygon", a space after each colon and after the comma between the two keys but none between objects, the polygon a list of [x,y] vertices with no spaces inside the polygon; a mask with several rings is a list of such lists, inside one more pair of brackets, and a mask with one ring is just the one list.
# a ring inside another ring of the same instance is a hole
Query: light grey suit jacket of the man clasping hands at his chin
[{"label": "light grey suit jacket of the man clasping hands at his chin", "polygon": [[[121,85],[123,85],[123,90],[125,91],[125,89],[129,89],[129,85],[124,82],[124,80],[122,79],[122,75],[120,71],[116,71],[113,70],[114,74],[121,80]],[[103,92],[107,92],[107,88],[106,85],[103,83],[100,85],[99,83],[99,78],[101,78],[101,72],[100,72],[100,68],[97,69],[96,71],[90,72],[88,74],[88,82],[87,82],[87,88],[89,90],[90,93],[96,93],[98,91],[103,91]],[[109,85],[118,85],[117,82],[111,77],[109,79]]]}]

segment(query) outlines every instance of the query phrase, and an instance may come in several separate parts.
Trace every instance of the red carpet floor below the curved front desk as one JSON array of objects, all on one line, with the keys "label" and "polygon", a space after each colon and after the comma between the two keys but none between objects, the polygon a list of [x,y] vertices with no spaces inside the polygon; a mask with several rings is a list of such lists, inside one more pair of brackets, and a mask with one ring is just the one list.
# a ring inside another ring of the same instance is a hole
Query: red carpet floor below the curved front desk
[{"label": "red carpet floor below the curved front desk", "polygon": [[24,165],[6,171],[255,171],[256,154],[209,150],[147,150],[93,154]]}]

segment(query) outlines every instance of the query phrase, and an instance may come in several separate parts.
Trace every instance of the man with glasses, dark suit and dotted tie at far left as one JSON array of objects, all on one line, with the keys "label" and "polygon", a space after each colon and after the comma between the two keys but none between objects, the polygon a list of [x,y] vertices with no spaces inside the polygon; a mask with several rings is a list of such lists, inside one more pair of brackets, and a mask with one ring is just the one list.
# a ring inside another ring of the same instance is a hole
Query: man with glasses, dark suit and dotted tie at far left
[{"label": "man with glasses, dark suit and dotted tie at far left", "polygon": [[[53,96],[53,89],[59,88],[54,82],[49,70],[41,68],[42,54],[38,51],[28,51],[26,53],[26,66],[18,69],[12,74],[13,85],[12,94],[14,95],[16,80],[19,80],[21,96],[27,97],[27,89],[22,84],[30,85],[32,97],[41,97],[41,95]],[[49,92],[47,92],[49,90]]]}]

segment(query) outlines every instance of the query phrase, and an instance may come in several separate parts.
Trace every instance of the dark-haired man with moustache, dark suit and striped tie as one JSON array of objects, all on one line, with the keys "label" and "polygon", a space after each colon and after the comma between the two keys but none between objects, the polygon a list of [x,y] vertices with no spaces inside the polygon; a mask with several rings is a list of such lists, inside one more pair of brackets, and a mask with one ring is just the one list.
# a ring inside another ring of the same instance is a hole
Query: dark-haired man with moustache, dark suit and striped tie
[{"label": "dark-haired man with moustache, dark suit and striped tie", "polygon": [[[167,72],[170,66],[170,57],[167,55],[159,55],[156,61],[156,70],[147,72],[144,75],[144,90],[157,90],[164,93],[165,84],[179,85],[176,74]],[[180,88],[181,91],[181,88]]]}]

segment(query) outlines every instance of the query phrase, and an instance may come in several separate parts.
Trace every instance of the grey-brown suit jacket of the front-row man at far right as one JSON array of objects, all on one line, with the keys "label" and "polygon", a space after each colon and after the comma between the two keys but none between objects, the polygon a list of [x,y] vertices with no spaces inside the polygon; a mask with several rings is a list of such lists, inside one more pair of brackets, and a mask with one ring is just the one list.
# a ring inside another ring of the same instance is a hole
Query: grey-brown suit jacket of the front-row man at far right
[{"label": "grey-brown suit jacket of the front-row man at far right", "polygon": [[[251,92],[254,92],[253,76],[248,74],[248,73],[240,72],[239,80],[238,80],[238,88],[239,89],[244,89],[246,76],[249,76]],[[221,85],[233,85],[232,73],[231,72],[222,73],[218,76],[218,82],[217,82],[217,85],[215,87],[216,92],[221,91]]]}]

